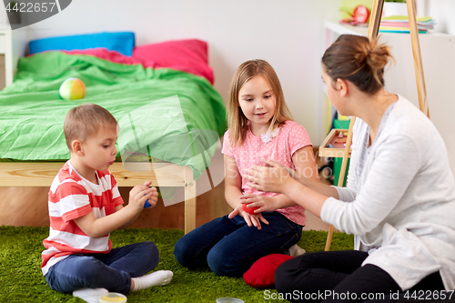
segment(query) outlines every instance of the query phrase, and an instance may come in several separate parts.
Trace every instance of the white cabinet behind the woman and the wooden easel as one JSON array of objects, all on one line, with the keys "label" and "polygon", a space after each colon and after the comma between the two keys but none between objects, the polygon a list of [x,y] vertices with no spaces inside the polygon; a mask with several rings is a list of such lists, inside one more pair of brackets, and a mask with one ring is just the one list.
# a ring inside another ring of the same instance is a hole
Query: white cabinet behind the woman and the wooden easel
[{"label": "white cabinet behind the woman and the wooden easel", "polygon": [[[326,46],[341,34],[367,35],[367,27],[325,22]],[[381,34],[380,43],[391,47],[395,64],[386,66],[384,81],[389,92],[408,98],[419,108],[410,34]],[[420,34],[420,52],[427,88],[430,119],[446,143],[455,173],[455,35]],[[326,114],[327,115],[327,114]]]}]

